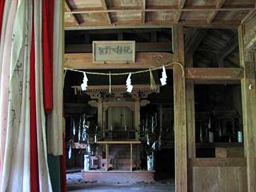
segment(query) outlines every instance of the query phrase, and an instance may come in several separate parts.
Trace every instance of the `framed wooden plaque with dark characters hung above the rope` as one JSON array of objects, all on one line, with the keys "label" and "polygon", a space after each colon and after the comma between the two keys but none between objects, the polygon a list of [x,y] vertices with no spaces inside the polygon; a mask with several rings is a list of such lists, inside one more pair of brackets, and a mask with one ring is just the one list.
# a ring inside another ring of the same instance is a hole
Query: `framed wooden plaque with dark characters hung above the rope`
[{"label": "framed wooden plaque with dark characters hung above the rope", "polygon": [[135,63],[135,41],[93,41],[94,63]]}]

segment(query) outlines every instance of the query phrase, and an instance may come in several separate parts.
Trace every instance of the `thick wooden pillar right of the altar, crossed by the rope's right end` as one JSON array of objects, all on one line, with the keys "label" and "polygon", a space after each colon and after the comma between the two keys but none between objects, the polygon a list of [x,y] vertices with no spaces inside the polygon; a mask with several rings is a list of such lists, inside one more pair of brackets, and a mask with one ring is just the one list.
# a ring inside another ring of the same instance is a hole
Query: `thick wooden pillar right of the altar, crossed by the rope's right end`
[{"label": "thick wooden pillar right of the altar, crossed by the rope's right end", "polygon": [[[173,61],[185,65],[183,25],[172,26]],[[174,89],[174,149],[175,149],[175,191],[187,191],[187,119],[185,77],[181,67],[173,69]]]}]

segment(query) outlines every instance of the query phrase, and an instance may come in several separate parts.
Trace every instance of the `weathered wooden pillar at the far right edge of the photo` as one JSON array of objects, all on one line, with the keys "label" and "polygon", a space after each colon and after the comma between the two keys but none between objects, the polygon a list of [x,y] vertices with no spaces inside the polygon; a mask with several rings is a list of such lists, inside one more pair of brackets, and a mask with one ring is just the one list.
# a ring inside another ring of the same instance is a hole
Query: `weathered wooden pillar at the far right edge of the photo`
[{"label": "weathered wooden pillar at the far right edge of the photo", "polygon": [[255,63],[247,62],[246,55],[249,53],[245,52],[244,34],[243,26],[240,26],[238,28],[240,63],[244,68],[244,78],[241,80],[244,148],[247,158],[248,191],[252,192],[256,191],[256,83],[255,66],[252,66]]}]

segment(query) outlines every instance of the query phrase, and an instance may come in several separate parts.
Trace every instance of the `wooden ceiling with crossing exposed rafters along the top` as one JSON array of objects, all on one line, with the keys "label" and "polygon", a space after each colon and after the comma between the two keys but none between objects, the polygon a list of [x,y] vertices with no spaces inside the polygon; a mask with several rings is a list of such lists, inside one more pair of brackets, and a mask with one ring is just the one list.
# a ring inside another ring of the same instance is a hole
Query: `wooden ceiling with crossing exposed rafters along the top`
[{"label": "wooden ceiling with crossing exposed rafters along the top", "polygon": [[[244,0],[243,3],[241,0],[234,0],[232,3],[215,0],[216,5],[212,5],[208,1],[204,1],[205,3],[199,3],[199,1],[201,0],[191,3],[191,1],[185,0],[172,0],[170,1],[172,3],[163,3],[168,1],[100,0],[83,1],[76,7],[75,2],[79,1],[66,0],[71,5],[69,6],[71,9],[65,11],[65,29],[170,28],[177,23],[181,23],[183,26],[200,26],[201,28],[237,28],[243,17],[255,8],[255,3],[252,3],[251,0]],[[226,13],[222,14],[222,18],[218,17],[217,19],[218,11],[222,13],[226,11]],[[79,14],[84,17],[82,19],[86,22],[81,24],[77,18],[79,22],[77,25],[69,15],[77,17]],[[232,14],[234,17],[230,17]]]}]

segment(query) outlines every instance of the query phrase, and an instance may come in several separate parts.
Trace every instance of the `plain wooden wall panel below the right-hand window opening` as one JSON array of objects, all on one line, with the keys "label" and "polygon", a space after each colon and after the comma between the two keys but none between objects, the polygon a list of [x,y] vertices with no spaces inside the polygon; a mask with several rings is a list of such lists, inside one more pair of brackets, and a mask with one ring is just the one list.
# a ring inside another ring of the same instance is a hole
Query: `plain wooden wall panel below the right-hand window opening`
[{"label": "plain wooden wall panel below the right-hand window opening", "polygon": [[194,158],[189,160],[189,191],[247,192],[246,158]]}]

